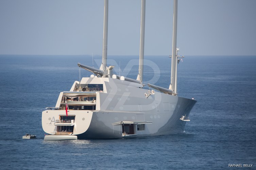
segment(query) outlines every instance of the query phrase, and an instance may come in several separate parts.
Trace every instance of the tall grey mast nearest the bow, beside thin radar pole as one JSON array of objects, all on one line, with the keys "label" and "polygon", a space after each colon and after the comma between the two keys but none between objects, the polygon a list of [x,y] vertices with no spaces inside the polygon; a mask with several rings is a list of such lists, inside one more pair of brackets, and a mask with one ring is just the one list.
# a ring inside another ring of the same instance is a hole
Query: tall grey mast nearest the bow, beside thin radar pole
[{"label": "tall grey mast nearest the bow, beside thin radar pole", "polygon": [[173,91],[174,95],[177,94],[177,10],[178,1],[174,0],[173,5],[173,33],[172,33],[172,70],[171,70],[171,84],[169,89]]}]

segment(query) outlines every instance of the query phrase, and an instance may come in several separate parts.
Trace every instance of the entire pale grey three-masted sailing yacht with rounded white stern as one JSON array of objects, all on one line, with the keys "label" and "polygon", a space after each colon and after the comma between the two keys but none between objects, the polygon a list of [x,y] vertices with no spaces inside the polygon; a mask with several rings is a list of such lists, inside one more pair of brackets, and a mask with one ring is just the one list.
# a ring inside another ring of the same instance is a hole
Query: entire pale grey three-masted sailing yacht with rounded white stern
[{"label": "entire pale grey three-masted sailing yacht with rounded white stern", "polygon": [[42,112],[42,128],[48,134],[45,140],[113,139],[184,132],[196,101],[177,95],[177,0],[174,0],[169,88],[142,83],[145,4],[146,0],[142,0],[137,79],[115,75],[114,66],[107,66],[108,0],[104,0],[102,65],[97,69],[78,63],[93,74],[75,81],[70,91],[59,94],[55,107]]}]

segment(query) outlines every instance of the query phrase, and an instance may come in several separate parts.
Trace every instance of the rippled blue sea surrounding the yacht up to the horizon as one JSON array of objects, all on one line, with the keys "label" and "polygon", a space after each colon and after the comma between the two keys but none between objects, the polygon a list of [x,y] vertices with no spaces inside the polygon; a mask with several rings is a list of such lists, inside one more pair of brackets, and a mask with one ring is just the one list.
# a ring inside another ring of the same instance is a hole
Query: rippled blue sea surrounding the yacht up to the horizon
[{"label": "rippled blue sea surrounding the yacht up to the horizon", "polygon": [[[116,74],[134,79],[137,58],[108,56]],[[93,59],[0,55],[1,170],[256,169],[256,56],[186,56],[180,61],[178,95],[198,101],[182,134],[44,141],[41,112],[54,107],[59,92],[79,81],[79,72],[91,75],[78,62],[98,68],[100,56]],[[145,59],[144,81],[168,88],[171,59]],[[25,133],[37,139],[22,139]]]}]

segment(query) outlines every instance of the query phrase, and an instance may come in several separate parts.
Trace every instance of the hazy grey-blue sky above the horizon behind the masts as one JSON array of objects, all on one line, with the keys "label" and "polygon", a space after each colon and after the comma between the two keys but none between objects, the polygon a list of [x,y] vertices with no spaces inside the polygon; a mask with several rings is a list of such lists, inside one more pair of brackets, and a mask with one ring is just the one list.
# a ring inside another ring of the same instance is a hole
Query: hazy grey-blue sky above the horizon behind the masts
[{"label": "hazy grey-blue sky above the horizon behind the masts", "polygon": [[[140,0],[109,0],[108,55],[139,55]],[[104,0],[0,0],[0,54],[102,55]],[[173,0],[146,0],[145,55],[170,55]],[[180,55],[256,55],[256,0],[178,0]]]}]

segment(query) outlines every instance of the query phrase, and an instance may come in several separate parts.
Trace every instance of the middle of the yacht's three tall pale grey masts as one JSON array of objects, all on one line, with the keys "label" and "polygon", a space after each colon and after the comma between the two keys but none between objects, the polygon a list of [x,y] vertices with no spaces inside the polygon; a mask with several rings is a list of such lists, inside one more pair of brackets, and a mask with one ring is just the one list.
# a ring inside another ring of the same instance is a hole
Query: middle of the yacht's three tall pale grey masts
[{"label": "middle of the yacht's three tall pale grey masts", "polygon": [[145,8],[146,0],[141,0],[141,15],[140,15],[140,49],[139,49],[139,74],[137,80],[140,84],[143,83],[143,62],[144,62],[144,37],[145,37]]}]

